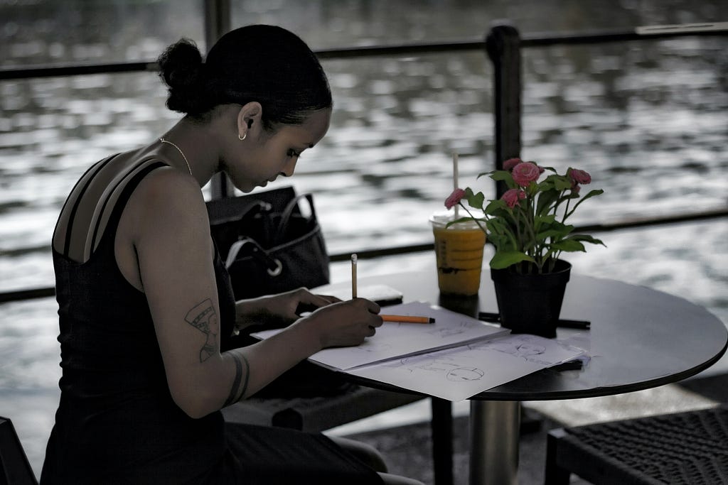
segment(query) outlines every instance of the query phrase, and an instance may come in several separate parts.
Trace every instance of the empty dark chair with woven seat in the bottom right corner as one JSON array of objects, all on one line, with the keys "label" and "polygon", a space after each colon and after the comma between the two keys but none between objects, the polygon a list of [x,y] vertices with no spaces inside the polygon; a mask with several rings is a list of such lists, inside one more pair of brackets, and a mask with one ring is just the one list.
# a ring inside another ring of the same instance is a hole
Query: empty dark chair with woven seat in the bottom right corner
[{"label": "empty dark chair with woven seat in the bottom right corner", "polygon": [[545,483],[728,484],[728,406],[559,428],[547,435]]}]

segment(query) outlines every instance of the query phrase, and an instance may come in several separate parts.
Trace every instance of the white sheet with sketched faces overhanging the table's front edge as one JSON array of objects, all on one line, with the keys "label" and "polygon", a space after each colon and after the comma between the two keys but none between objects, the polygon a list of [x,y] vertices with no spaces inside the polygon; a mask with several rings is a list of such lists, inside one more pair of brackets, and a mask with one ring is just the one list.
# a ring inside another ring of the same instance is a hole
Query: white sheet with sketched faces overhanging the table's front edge
[{"label": "white sheet with sketched faces overhanging the table's front edge", "polygon": [[462,401],[582,353],[557,340],[516,334],[350,369],[347,373],[448,401]]}]

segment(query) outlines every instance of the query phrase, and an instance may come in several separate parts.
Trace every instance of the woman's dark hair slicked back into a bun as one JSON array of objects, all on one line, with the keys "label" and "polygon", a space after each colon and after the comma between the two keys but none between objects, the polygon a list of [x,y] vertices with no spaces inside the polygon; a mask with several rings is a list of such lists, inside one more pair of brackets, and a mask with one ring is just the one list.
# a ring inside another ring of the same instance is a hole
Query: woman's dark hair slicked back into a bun
[{"label": "woman's dark hair slicked back into a bun", "polygon": [[204,119],[218,105],[251,101],[263,107],[263,126],[301,124],[312,111],[331,108],[331,89],[316,55],[296,34],[272,25],[248,25],[222,36],[205,61],[181,39],[159,56],[169,86],[167,108]]}]

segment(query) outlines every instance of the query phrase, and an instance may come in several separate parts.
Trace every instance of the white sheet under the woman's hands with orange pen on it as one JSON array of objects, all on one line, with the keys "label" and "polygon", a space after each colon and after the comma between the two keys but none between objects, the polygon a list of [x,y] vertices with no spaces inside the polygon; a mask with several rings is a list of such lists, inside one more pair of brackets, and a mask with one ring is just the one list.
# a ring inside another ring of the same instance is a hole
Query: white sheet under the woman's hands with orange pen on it
[{"label": "white sheet under the woman's hands with orange pen on it", "polygon": [[[373,337],[356,347],[326,348],[309,360],[331,369],[352,369],[413,353],[463,345],[473,340],[507,334],[508,329],[485,324],[475,318],[446,310],[427,302],[411,302],[382,309],[390,315],[429,316],[434,324],[384,322]],[[257,332],[253,337],[267,338],[280,330]]]}]

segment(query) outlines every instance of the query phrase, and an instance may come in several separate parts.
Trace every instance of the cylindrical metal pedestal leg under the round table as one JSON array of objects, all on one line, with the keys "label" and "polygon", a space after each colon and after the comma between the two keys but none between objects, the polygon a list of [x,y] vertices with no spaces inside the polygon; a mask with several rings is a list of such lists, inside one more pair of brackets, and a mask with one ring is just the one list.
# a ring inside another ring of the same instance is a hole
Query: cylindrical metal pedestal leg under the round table
[{"label": "cylindrical metal pedestal leg under the round table", "polygon": [[470,485],[518,484],[521,403],[470,401]]}]

